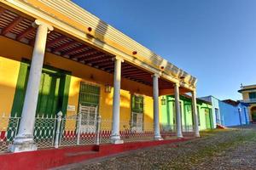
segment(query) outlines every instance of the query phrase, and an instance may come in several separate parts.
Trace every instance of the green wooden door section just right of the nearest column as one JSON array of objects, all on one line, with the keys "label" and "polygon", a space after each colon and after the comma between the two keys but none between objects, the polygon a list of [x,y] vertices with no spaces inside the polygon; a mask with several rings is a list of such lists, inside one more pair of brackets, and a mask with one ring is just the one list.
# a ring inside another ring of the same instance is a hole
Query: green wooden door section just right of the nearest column
[{"label": "green wooden door section just right of the nearest column", "polygon": [[55,115],[62,108],[64,78],[55,71],[42,71],[34,129],[35,140],[54,139]]}]

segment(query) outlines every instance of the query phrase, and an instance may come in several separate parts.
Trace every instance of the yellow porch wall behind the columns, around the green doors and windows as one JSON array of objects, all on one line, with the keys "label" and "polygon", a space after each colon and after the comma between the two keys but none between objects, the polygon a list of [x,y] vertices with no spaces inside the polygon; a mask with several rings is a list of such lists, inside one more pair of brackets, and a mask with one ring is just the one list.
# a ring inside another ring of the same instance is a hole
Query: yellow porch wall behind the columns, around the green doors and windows
[{"label": "yellow porch wall behind the columns, around the green doors and windows", "polygon": [[[20,68],[20,60],[22,58],[31,59],[32,47],[21,42],[15,42],[6,37],[0,37],[0,44],[0,55],[3,56],[0,58],[0,113],[10,113],[15,95],[15,87]],[[113,94],[106,94],[104,91],[105,84],[113,84],[112,74],[92,68],[87,65],[80,64],[79,62],[73,61],[71,59],[62,58],[60,56],[49,53],[45,54],[44,64],[72,72],[68,105],[75,105],[76,111],[67,111],[67,116],[77,114],[78,112],[80,82],[90,82],[95,83],[101,87],[99,109],[102,115],[102,119],[108,119],[110,121],[112,120]],[[128,123],[131,119],[131,94],[142,94],[144,96],[145,102],[145,130],[153,129],[153,99],[151,97],[152,87],[123,78],[121,81],[121,88],[120,122],[125,121]],[[74,124],[71,124],[72,127],[74,127]],[[123,128],[122,125],[120,127]]]}]

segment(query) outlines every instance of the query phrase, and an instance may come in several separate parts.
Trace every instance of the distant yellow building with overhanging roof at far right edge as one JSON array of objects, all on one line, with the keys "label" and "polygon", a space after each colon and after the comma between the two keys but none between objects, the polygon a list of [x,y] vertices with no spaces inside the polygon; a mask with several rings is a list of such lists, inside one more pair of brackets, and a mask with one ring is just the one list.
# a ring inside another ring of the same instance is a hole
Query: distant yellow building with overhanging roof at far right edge
[{"label": "distant yellow building with overhanging roof at far right edge", "polygon": [[242,95],[242,102],[249,106],[250,121],[256,122],[256,85],[242,86],[238,90]]}]

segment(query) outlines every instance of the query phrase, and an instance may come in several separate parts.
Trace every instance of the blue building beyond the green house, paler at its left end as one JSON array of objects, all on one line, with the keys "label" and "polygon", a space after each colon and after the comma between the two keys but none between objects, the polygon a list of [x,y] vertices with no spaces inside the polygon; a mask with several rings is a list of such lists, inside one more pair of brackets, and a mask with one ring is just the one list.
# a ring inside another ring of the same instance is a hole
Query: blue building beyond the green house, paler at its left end
[{"label": "blue building beyond the green house, paler at its left end", "polygon": [[246,103],[232,99],[220,100],[212,95],[202,97],[212,103],[212,125],[225,127],[249,124],[249,115]]}]

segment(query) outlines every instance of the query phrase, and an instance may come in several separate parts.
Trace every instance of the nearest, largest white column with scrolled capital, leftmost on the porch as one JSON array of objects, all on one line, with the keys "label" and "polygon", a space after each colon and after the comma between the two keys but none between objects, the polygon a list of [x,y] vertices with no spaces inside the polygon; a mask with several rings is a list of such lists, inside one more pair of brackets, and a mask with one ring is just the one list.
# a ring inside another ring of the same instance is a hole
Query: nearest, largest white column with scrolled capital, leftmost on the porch
[{"label": "nearest, largest white column with scrolled capital, leftmost on the porch", "polygon": [[44,63],[47,34],[49,31],[53,31],[53,27],[40,20],[35,20],[33,26],[38,26],[38,31],[33,48],[32,64],[21,113],[19,132],[15,137],[14,144],[10,147],[12,152],[37,150],[37,145],[33,140],[33,131],[38,105],[38,92]]}]

